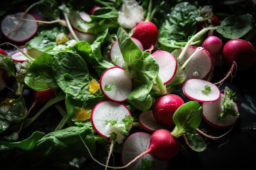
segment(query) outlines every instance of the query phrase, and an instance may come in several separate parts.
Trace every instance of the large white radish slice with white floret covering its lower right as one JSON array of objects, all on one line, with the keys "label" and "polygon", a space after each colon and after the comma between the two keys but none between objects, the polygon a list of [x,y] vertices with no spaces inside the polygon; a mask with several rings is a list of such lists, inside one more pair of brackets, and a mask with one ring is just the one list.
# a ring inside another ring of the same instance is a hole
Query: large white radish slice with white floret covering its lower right
[{"label": "large white radish slice with white floret covering its lower right", "polygon": [[132,115],[130,110],[124,104],[102,101],[92,110],[91,121],[93,128],[103,137],[110,137],[111,131],[107,126],[107,121],[116,120],[120,123],[126,115]]}]

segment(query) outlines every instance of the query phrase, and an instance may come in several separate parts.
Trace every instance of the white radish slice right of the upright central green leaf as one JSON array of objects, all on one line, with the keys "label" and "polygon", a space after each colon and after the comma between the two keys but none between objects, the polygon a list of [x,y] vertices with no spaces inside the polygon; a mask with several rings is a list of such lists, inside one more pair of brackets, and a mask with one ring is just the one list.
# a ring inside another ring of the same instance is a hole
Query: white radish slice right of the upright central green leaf
[{"label": "white radish slice right of the upright central green leaf", "polygon": [[157,50],[152,54],[152,57],[159,65],[158,75],[163,84],[170,82],[177,71],[177,60],[167,51]]}]

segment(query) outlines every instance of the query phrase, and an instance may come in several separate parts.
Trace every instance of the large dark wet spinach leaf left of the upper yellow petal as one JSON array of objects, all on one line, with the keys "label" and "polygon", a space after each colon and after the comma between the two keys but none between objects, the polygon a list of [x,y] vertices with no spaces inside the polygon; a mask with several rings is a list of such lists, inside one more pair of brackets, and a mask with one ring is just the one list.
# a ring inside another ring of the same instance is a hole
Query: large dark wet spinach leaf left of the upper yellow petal
[{"label": "large dark wet spinach leaf left of the upper yellow petal", "polygon": [[[89,70],[86,62],[73,51],[61,51],[54,55],[52,60],[54,79],[58,86],[75,100],[88,100],[94,95],[88,90]],[[69,73],[72,79],[65,78]]]}]

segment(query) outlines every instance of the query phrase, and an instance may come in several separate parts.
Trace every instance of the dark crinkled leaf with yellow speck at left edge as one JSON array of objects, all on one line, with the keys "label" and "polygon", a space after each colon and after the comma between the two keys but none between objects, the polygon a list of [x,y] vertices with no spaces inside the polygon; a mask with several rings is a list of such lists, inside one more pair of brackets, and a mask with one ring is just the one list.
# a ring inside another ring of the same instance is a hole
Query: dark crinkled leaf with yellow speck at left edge
[{"label": "dark crinkled leaf with yellow speck at left edge", "polygon": [[22,95],[18,99],[4,99],[0,103],[0,133],[7,130],[12,123],[20,123],[26,115],[27,108]]}]

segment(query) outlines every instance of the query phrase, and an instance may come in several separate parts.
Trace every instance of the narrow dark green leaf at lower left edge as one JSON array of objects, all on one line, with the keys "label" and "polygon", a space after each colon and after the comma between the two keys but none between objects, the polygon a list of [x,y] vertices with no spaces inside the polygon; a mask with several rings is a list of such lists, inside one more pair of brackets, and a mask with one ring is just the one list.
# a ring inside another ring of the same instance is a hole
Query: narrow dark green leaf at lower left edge
[{"label": "narrow dark green leaf at lower left edge", "polygon": [[36,145],[36,142],[45,136],[44,132],[35,131],[33,134],[22,141],[18,142],[4,142],[0,141],[0,150],[10,150],[12,148],[21,148],[23,150],[31,150]]}]

